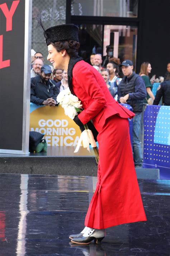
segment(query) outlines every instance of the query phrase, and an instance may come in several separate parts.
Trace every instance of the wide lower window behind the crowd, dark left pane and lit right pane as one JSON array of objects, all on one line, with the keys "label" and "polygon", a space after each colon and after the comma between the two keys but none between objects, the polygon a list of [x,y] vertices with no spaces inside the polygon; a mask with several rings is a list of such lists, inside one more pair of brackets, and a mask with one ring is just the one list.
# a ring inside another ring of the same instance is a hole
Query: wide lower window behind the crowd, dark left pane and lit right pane
[{"label": "wide lower window behind the crowd, dark left pane and lit right pane", "polygon": [[[90,55],[99,53],[106,58],[106,46],[113,48],[113,57],[119,58],[120,62],[130,59],[136,67],[137,52],[137,27],[122,25],[105,25],[104,39],[102,25],[81,24],[79,26],[79,55],[89,64]],[[103,44],[102,44],[103,42]],[[108,57],[109,58],[109,57]],[[107,59],[107,58],[106,58]]]}]

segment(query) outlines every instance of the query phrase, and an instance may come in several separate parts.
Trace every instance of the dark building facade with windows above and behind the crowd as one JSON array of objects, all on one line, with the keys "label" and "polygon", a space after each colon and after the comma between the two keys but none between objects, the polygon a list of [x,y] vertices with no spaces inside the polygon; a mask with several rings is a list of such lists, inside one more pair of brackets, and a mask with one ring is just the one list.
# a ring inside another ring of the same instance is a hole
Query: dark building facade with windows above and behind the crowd
[{"label": "dark building facade with windows above and behind the crowd", "polygon": [[[79,55],[89,61],[91,53],[106,55],[112,45],[114,57],[130,59],[138,73],[150,62],[151,75],[164,76],[170,61],[169,0],[33,0],[32,49],[47,48],[34,17],[42,12],[45,28],[63,23],[79,26]],[[48,63],[48,62],[46,62]]]}]

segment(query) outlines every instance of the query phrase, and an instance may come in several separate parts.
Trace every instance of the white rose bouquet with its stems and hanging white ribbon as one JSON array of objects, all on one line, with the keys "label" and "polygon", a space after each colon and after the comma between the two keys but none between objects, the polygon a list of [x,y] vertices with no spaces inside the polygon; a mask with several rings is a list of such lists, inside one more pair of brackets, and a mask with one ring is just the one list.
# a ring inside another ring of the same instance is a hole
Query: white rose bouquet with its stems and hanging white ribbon
[{"label": "white rose bouquet with its stems and hanging white ribbon", "polygon": [[[82,111],[82,104],[79,98],[77,98],[75,95],[71,94],[71,91],[69,87],[66,90],[61,91],[57,96],[57,103],[61,103],[61,107],[65,111],[65,115],[69,116],[72,120],[75,118],[75,116]],[[99,162],[99,151],[98,147],[96,147],[96,143],[93,137],[93,134],[91,130],[89,130],[88,125],[84,125],[85,130],[81,133],[80,140],[77,144],[77,147],[74,151],[77,152],[79,150],[81,142],[83,143],[83,147],[89,149],[89,144],[94,149],[96,162]]]}]

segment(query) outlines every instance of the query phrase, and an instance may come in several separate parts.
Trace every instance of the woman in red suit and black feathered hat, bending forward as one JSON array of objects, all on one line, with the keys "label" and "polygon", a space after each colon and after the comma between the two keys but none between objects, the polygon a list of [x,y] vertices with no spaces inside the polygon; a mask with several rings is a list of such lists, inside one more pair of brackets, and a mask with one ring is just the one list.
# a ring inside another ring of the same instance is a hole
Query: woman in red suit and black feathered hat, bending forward
[{"label": "woman in red suit and black feathered hat, bending forward", "polygon": [[98,243],[105,237],[106,228],[146,221],[129,138],[128,118],[134,113],[113,99],[103,77],[78,56],[78,27],[51,27],[44,30],[44,37],[47,59],[55,69],[67,71],[70,90],[81,100],[84,110],[76,116],[76,123],[82,126],[92,120],[99,133],[98,183],[84,230],[70,235],[73,243]]}]

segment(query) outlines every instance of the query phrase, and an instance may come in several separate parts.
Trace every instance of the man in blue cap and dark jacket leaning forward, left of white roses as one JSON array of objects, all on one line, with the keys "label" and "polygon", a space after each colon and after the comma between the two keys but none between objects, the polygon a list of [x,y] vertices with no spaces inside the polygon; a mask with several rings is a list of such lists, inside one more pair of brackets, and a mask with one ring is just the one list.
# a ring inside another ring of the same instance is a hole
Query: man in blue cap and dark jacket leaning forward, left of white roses
[{"label": "man in blue cap and dark jacket leaning forward, left of white roses", "polygon": [[51,67],[43,65],[38,76],[31,78],[30,102],[36,105],[57,106],[56,98],[60,90],[50,79]]}]

